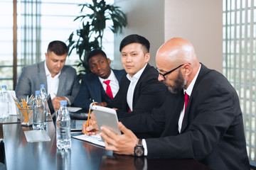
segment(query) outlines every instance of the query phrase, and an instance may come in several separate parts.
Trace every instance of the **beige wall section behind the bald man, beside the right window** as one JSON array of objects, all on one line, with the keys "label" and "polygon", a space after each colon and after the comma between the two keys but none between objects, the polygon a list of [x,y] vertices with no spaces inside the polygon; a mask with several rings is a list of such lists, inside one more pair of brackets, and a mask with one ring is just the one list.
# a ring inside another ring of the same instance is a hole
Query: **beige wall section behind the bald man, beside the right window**
[{"label": "beige wall section behind the bald man, beside the right window", "polygon": [[166,0],[164,39],[192,42],[199,62],[223,72],[223,1]]}]

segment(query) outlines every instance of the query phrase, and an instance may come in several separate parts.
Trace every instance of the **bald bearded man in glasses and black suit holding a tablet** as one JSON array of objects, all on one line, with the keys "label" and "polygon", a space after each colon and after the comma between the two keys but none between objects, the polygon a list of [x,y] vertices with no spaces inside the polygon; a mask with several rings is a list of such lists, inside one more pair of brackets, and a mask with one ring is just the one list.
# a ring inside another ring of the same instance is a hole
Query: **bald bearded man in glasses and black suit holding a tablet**
[{"label": "bald bearded man in glasses and black suit holding a tablet", "polygon": [[[171,93],[151,114],[120,119],[123,135],[101,127],[105,148],[138,157],[192,158],[212,169],[250,169],[239,98],[228,80],[199,63],[193,45],[182,38],[162,45],[156,64],[159,81]],[[133,132],[161,137],[138,140]]]}]

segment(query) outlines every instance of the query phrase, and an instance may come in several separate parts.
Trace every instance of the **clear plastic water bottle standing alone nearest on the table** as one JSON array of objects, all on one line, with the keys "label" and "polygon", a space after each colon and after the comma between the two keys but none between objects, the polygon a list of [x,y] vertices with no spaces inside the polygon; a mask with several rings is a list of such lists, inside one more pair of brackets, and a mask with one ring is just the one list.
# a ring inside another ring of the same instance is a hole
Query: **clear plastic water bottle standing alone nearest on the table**
[{"label": "clear plastic water bottle standing alone nearest on the table", "polygon": [[58,149],[69,149],[71,147],[71,123],[67,108],[67,101],[60,101],[60,110],[56,120],[56,142]]}]

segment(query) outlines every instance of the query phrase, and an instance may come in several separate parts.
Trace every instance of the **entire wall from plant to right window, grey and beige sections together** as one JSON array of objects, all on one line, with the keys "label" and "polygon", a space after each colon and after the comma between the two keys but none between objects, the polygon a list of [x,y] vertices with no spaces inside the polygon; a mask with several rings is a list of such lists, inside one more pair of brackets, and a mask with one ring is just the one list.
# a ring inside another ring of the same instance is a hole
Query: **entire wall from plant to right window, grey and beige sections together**
[{"label": "entire wall from plant to right window, grey and beige sections together", "polygon": [[150,64],[156,66],[158,48],[174,37],[189,40],[196,48],[198,60],[207,67],[223,70],[222,0],[116,0],[127,14],[128,26],[114,38],[114,62],[120,64],[119,43],[137,33],[151,42]]}]

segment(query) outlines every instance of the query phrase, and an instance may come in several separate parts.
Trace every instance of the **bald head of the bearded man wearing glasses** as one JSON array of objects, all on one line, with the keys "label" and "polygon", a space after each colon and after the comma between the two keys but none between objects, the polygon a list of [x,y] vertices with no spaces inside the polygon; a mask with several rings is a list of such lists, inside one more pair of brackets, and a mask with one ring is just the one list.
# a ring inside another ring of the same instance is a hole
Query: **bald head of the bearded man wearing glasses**
[{"label": "bald head of the bearded man wearing glasses", "polygon": [[163,73],[183,65],[178,72],[186,83],[183,87],[185,89],[200,67],[193,45],[183,38],[173,38],[165,42],[156,52],[156,65]]}]

